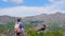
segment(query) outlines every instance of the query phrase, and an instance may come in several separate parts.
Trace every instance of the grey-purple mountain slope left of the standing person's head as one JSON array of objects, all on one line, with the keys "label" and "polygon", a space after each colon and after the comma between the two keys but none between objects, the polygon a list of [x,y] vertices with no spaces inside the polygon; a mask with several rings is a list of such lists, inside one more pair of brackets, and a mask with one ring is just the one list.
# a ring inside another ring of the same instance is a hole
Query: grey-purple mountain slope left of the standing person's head
[{"label": "grey-purple mountain slope left of the standing person's head", "polygon": [[5,24],[6,22],[15,21],[18,17],[11,17],[8,15],[0,16],[0,24]]}]

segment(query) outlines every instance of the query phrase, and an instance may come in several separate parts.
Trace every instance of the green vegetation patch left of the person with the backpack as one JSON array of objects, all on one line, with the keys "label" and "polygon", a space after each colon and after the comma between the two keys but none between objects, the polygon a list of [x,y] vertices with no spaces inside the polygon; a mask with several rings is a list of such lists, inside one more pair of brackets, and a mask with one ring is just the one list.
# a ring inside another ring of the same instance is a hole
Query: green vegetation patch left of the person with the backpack
[{"label": "green vegetation patch left of the person with the backpack", "polygon": [[9,34],[14,29],[14,22],[6,22],[6,24],[0,24],[0,33]]}]

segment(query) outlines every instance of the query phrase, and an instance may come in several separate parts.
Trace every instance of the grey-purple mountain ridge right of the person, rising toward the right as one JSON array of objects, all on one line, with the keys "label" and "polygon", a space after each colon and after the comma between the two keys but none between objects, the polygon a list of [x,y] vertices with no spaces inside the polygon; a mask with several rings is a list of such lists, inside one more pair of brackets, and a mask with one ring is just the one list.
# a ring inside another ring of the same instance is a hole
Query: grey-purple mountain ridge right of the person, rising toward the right
[{"label": "grey-purple mountain ridge right of the person, rising toward the right", "polygon": [[63,13],[55,13],[55,14],[41,14],[32,17],[24,18],[25,21],[43,21],[43,24],[48,24],[50,22],[65,22],[65,14]]}]

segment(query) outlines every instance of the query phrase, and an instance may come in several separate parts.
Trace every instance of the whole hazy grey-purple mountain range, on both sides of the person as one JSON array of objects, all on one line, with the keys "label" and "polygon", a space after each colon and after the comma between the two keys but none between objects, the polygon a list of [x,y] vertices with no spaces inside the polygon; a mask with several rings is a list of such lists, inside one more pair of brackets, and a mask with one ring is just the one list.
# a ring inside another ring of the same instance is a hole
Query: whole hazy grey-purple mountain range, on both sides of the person
[{"label": "whole hazy grey-purple mountain range, on both sides of the person", "polygon": [[[5,24],[9,21],[15,21],[18,17],[11,17],[11,16],[0,16],[0,24]],[[29,21],[43,21],[43,24],[48,24],[50,22],[58,22],[58,23],[65,23],[65,14],[63,13],[55,13],[55,14],[41,14],[37,16],[30,16],[30,17],[24,17],[24,22]]]}]

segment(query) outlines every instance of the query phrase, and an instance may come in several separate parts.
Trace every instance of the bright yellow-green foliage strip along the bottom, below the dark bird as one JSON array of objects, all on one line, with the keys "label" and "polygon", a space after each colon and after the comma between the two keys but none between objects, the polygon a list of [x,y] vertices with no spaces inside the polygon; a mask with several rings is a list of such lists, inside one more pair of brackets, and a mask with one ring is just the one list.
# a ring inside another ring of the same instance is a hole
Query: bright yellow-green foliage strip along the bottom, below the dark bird
[{"label": "bright yellow-green foliage strip along the bottom, below the dark bird", "polygon": [[61,32],[35,32],[35,31],[28,31],[27,36],[64,36]]}]

